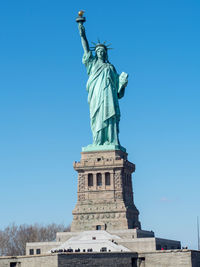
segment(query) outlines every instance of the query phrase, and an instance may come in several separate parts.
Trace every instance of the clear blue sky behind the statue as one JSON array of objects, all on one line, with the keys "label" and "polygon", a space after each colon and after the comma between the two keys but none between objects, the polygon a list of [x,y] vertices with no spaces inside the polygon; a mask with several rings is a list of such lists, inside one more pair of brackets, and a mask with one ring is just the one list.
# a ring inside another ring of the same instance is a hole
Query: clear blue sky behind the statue
[{"label": "clear blue sky behind the statue", "polygon": [[72,220],[73,161],[91,143],[75,18],[112,43],[129,73],[120,141],[142,228],[197,248],[200,216],[200,1],[0,2],[0,228]]}]

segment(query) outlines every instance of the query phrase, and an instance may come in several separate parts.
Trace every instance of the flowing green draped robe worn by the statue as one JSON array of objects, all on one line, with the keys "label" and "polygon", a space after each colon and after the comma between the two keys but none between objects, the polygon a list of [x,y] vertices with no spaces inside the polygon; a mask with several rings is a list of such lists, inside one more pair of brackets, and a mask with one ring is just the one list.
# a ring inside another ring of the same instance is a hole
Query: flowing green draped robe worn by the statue
[{"label": "flowing green draped robe worn by the statue", "polygon": [[88,103],[93,145],[119,145],[120,109],[118,98],[124,94],[119,90],[119,75],[110,63],[100,63],[89,51],[83,55],[88,81]]}]

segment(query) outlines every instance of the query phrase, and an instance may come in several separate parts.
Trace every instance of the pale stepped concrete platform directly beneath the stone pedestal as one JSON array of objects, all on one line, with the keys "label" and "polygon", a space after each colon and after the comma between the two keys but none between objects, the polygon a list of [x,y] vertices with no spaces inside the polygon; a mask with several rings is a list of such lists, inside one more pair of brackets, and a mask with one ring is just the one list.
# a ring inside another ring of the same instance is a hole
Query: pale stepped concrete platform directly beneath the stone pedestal
[{"label": "pale stepped concrete platform directly beneath the stone pedestal", "polygon": [[153,252],[176,250],[181,243],[175,240],[156,238],[154,232],[140,229],[119,231],[84,231],[57,233],[56,242],[27,243],[26,254],[66,252]]}]

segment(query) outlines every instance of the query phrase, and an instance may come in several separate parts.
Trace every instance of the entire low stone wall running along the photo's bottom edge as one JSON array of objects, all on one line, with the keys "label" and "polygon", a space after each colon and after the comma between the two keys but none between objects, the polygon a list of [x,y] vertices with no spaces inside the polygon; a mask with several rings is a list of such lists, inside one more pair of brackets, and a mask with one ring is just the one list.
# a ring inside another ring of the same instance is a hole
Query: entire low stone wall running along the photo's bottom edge
[{"label": "entire low stone wall running along the photo's bottom edge", "polygon": [[62,253],[0,257],[0,267],[199,267],[200,251],[177,250],[146,253]]}]

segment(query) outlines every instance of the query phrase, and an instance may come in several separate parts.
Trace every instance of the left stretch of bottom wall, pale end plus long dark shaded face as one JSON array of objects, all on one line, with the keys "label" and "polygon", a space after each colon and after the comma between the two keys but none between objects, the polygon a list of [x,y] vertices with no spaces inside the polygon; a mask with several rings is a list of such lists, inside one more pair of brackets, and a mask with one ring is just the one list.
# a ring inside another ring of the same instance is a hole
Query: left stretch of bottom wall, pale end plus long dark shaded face
[{"label": "left stretch of bottom wall, pale end plus long dark shaded face", "polygon": [[137,267],[136,253],[68,253],[37,256],[0,257],[0,267]]}]

